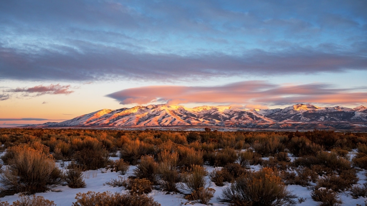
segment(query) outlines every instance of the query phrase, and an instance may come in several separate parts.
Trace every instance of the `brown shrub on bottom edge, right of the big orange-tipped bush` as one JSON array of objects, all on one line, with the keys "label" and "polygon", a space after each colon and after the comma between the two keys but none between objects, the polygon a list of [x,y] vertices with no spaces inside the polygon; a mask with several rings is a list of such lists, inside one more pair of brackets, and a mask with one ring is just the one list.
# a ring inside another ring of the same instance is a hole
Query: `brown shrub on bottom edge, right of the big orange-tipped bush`
[{"label": "brown shrub on bottom edge, right of the big orange-tipped bush", "polygon": [[320,202],[319,206],[341,206],[343,203],[336,192],[323,188],[311,192],[311,197],[314,201]]}]

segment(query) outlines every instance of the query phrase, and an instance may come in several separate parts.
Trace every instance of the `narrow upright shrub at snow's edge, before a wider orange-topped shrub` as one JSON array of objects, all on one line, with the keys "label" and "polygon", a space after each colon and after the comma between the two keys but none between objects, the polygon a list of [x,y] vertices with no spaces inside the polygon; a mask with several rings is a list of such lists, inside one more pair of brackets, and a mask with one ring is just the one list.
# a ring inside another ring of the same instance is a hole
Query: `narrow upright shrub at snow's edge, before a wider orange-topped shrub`
[{"label": "narrow upright shrub at snow's edge, before a wider orange-topped shrub", "polygon": [[133,173],[135,177],[139,179],[146,178],[154,184],[156,183],[157,168],[158,164],[153,157],[143,156]]}]

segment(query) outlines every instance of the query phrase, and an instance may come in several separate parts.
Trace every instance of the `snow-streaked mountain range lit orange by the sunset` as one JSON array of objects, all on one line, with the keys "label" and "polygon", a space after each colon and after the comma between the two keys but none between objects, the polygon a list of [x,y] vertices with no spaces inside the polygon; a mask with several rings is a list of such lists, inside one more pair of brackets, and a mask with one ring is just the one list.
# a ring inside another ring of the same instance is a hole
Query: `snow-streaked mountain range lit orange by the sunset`
[{"label": "snow-streaked mountain range lit orange by the sunset", "polygon": [[225,127],[252,129],[345,129],[367,130],[367,108],[317,107],[296,104],[284,109],[242,110],[231,106],[186,108],[166,104],[103,109],[63,121],[36,127],[159,128]]}]

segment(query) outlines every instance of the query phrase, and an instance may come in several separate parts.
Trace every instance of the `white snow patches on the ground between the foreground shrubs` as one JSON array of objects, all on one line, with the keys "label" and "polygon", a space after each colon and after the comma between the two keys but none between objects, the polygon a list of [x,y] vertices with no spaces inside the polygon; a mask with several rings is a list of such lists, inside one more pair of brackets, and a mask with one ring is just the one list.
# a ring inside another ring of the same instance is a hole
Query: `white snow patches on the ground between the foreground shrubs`
[{"label": "white snow patches on the ground between the foreground shrubs", "polygon": [[[118,159],[118,157],[111,157],[111,159]],[[68,162],[65,163],[64,168],[66,167]],[[58,163],[60,166],[60,164]],[[211,172],[214,168],[210,166],[204,166],[208,172]],[[61,168],[61,167],[60,167]],[[63,168],[61,168],[63,169]],[[106,182],[112,180],[112,179],[119,179],[119,177],[128,177],[132,175],[132,171],[135,169],[135,166],[130,166],[129,171],[125,175],[120,175],[117,172],[111,172],[110,170],[107,170],[105,173],[102,173],[101,170],[89,170],[84,172],[84,181],[86,182],[87,186],[85,188],[76,188],[72,189],[68,186],[57,186],[52,189],[52,191],[44,192],[44,193],[37,193],[36,196],[43,196],[45,199],[54,201],[54,203],[57,206],[71,206],[73,202],[76,201],[75,196],[79,192],[88,192],[88,191],[95,191],[95,192],[104,192],[104,191],[110,191],[110,192],[126,192],[124,187],[112,187],[108,184],[105,184]],[[252,170],[259,170],[261,167],[259,165],[252,165]],[[365,171],[360,171],[358,173],[359,177],[359,186],[363,183],[366,183],[366,176]],[[209,180],[209,177],[207,177]],[[228,203],[221,203],[218,202],[217,197],[221,195],[222,190],[225,187],[229,187],[230,183],[225,184],[223,187],[216,186],[213,182],[210,183],[210,188],[213,188],[215,190],[214,197],[211,198],[210,204],[222,206],[222,205],[229,205]],[[292,191],[295,195],[297,195],[299,198],[306,199],[305,202],[299,203],[297,199],[295,201],[298,205],[302,206],[317,206],[318,202],[315,202],[312,200],[310,196],[311,190],[308,190],[306,187],[302,187],[300,185],[289,185],[288,190]],[[0,202],[8,201],[9,203],[12,203],[19,199],[20,194],[5,196],[4,198],[0,199]],[[155,201],[159,202],[162,206],[179,206],[184,205],[185,203],[189,202],[186,199],[184,199],[183,194],[175,194],[170,193],[166,194],[166,192],[153,190],[148,194],[149,196],[152,196]],[[349,192],[341,192],[340,193],[341,199],[343,201],[343,205],[350,205],[355,206],[357,204],[364,205],[364,201],[366,201],[366,198],[360,197],[359,199],[353,199],[351,195],[349,195]],[[191,204],[190,204],[191,205]],[[202,205],[199,203],[195,203],[192,205]]]}]

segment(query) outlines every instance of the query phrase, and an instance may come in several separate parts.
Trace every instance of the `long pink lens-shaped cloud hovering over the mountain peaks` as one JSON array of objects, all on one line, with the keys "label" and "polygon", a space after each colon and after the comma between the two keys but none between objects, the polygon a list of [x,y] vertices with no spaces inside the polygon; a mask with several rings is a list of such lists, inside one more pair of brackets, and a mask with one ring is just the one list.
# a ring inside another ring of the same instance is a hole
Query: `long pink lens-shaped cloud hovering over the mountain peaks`
[{"label": "long pink lens-shaped cloud hovering over the mountain peaks", "polygon": [[329,84],[280,85],[243,81],[213,87],[149,86],[106,95],[120,104],[214,103],[266,108],[295,103],[366,104],[367,88],[333,88]]}]

